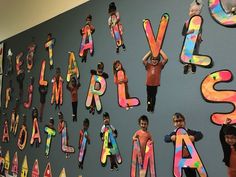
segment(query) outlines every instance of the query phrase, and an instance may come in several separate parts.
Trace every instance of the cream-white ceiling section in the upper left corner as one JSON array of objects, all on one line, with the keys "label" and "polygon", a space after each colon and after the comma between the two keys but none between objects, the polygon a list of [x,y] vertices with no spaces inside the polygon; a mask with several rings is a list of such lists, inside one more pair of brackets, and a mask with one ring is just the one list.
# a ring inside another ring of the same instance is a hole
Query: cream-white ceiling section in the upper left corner
[{"label": "cream-white ceiling section in the upper left corner", "polygon": [[89,0],[0,0],[0,41]]}]

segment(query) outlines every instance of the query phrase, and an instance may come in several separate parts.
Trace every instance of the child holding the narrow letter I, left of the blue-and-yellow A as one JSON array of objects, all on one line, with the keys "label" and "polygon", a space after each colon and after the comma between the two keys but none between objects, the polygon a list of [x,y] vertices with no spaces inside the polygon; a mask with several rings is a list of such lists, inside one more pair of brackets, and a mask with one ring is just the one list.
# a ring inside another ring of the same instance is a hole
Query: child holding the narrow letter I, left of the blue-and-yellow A
[{"label": "child holding the narrow letter I, left of the blue-and-yellow A", "polygon": [[[84,137],[87,139],[88,144],[90,144],[90,136],[88,134],[88,128],[89,128],[89,120],[86,118],[83,121],[83,129],[81,129],[80,132],[79,132],[79,155],[80,155],[80,151],[81,151],[81,147],[82,147]],[[85,157],[85,154],[86,154],[86,144],[85,144],[85,147],[84,147],[83,158],[82,158],[81,161],[79,159],[79,168],[81,168],[81,169],[83,169],[84,157]]]}]

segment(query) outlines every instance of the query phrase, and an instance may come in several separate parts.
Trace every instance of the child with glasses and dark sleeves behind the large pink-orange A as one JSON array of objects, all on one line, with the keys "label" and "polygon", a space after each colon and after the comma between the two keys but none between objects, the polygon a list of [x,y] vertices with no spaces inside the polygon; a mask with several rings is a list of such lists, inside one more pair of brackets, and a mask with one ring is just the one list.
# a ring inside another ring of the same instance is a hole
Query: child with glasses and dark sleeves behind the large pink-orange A
[{"label": "child with glasses and dark sleeves behind the large pink-orange A", "polygon": [[[175,144],[176,130],[178,128],[185,128],[188,135],[189,135],[189,139],[193,143],[196,141],[199,141],[203,137],[203,134],[200,131],[190,130],[185,127],[186,126],[185,117],[181,113],[175,113],[173,115],[173,124],[174,124],[175,130],[165,136],[164,141],[166,143],[173,142]],[[184,146],[183,147],[183,158],[189,158],[189,157],[191,157],[191,155],[190,155],[187,147]],[[185,172],[186,177],[196,177],[196,171],[194,168],[184,168],[184,172]]]}]

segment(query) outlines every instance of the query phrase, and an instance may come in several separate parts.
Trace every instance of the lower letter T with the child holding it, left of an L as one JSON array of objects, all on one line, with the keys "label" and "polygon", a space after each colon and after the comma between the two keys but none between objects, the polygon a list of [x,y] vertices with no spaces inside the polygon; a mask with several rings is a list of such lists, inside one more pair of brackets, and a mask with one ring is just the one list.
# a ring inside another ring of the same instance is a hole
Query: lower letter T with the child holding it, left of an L
[{"label": "lower letter T with the child holding it, left of an L", "polygon": [[45,155],[48,157],[51,147],[52,137],[56,135],[56,130],[53,127],[54,120],[51,117],[49,120],[49,124],[45,126],[44,131],[47,133],[46,145],[45,145]]}]

